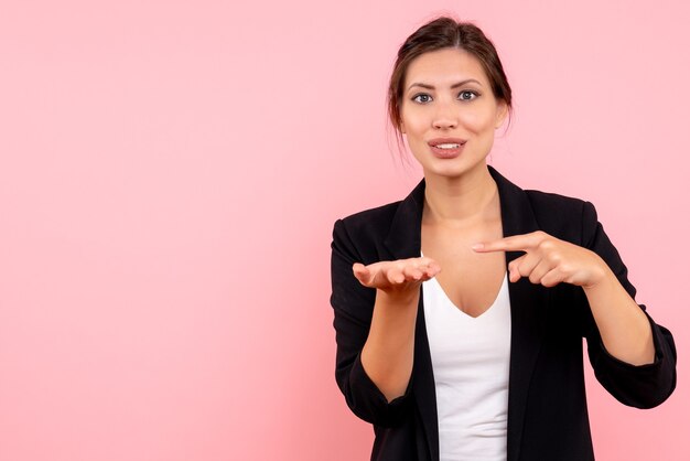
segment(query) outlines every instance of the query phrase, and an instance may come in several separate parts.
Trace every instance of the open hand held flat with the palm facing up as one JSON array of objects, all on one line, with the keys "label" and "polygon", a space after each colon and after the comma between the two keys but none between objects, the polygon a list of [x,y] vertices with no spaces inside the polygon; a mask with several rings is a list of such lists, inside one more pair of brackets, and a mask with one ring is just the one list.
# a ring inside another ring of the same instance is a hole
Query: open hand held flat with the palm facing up
[{"label": "open hand held flat with the palm facing up", "polygon": [[359,283],[390,293],[417,288],[440,271],[439,264],[427,257],[379,261],[368,266],[360,262],[353,265]]}]

